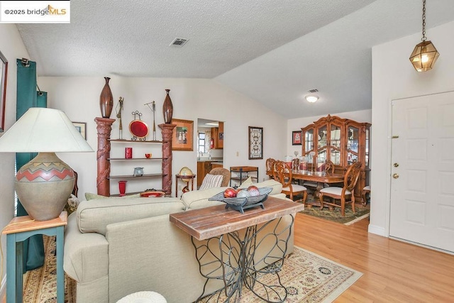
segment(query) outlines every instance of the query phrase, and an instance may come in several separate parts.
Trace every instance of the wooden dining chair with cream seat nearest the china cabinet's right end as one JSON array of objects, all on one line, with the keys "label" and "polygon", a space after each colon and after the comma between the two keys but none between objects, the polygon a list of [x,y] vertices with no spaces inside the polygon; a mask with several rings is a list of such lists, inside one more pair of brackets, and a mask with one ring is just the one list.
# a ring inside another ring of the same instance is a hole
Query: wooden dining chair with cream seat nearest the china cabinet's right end
[{"label": "wooden dining chair with cream seat nearest the china cabinet's right end", "polygon": [[[323,209],[324,204],[329,206],[341,207],[341,215],[345,216],[345,204],[352,204],[352,211],[355,212],[355,186],[358,182],[358,177],[360,177],[361,172],[361,162],[355,162],[353,165],[348,167],[345,177],[343,179],[343,187],[324,187],[320,189],[319,201],[320,209]],[[330,197],[333,199],[331,202],[324,201],[325,197]],[[336,204],[336,201],[340,200],[341,204]]]}]

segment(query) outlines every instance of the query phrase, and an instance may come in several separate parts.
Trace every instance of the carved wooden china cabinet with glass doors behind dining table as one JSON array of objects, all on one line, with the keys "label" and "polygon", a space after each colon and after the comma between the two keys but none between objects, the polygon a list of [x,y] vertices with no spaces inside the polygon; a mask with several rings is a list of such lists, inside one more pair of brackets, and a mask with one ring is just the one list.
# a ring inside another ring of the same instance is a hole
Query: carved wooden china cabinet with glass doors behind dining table
[{"label": "carved wooden china cabinet with glass doors behind dining table", "polygon": [[355,199],[362,202],[362,188],[370,178],[370,123],[360,123],[328,115],[301,128],[302,156],[309,160],[309,167],[331,160],[335,173],[345,173],[353,162],[361,162],[360,178],[355,188]]}]

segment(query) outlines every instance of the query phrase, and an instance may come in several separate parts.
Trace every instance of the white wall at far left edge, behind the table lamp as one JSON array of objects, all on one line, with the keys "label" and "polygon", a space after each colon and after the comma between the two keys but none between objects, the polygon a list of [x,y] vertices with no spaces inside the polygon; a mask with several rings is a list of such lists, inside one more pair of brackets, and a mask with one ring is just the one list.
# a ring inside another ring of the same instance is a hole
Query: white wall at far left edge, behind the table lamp
[{"label": "white wall at far left edge, behind the table lamp", "polygon": [[[16,58],[29,58],[21,36],[14,24],[0,24],[0,51],[8,60],[8,79],[6,84],[5,130],[16,121]],[[3,133],[0,133],[0,136]],[[0,153],[0,226],[3,229],[14,216],[14,153]],[[6,251],[6,237],[1,238],[1,247]],[[6,258],[6,254],[4,255]],[[0,277],[0,298],[5,292],[6,261],[4,275]]]}]

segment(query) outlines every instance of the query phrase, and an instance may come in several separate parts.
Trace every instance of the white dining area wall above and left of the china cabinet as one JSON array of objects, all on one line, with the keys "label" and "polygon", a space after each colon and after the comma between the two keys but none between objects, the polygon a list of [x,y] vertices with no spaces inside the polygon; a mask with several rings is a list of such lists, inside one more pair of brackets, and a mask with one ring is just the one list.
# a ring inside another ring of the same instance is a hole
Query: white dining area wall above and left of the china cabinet
[{"label": "white dining area wall above and left of the china cabinet", "polygon": [[[314,104],[316,105],[316,104]],[[367,109],[365,111],[347,111],[344,113],[330,114],[331,116],[338,116],[342,119],[350,119],[357,122],[372,123],[372,111]],[[326,117],[328,114],[323,116],[312,116],[306,118],[289,119],[287,121],[287,154],[294,156],[294,151],[298,150],[301,155],[301,145],[292,145],[292,131],[301,131],[301,128],[308,126],[311,123],[319,120],[320,118]],[[371,128],[372,129],[372,128]],[[279,158],[284,160],[284,155]]]}]

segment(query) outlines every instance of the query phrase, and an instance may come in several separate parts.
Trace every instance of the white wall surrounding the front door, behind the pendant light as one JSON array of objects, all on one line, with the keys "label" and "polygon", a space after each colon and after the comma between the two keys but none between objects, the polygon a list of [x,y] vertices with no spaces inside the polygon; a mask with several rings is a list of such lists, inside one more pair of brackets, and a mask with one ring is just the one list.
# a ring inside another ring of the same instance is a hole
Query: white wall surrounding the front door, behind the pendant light
[{"label": "white wall surrounding the front door, behind the pendant light", "polygon": [[416,72],[409,61],[414,46],[421,42],[421,33],[372,48],[372,233],[389,236],[391,101],[454,90],[453,33],[454,22],[427,31],[428,40],[440,53],[428,72]]}]

